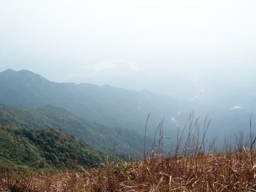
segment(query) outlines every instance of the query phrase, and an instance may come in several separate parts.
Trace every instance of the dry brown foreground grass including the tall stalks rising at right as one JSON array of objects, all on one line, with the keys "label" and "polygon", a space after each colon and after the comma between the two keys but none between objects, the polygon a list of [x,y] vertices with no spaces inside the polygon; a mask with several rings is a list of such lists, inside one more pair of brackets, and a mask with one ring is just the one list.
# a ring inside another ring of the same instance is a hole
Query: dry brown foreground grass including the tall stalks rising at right
[{"label": "dry brown foreground grass including the tall stalks rising at right", "polygon": [[178,132],[174,154],[163,153],[161,122],[157,128],[158,146],[155,145],[155,137],[150,157],[145,154],[144,149],[141,161],[109,162],[106,158],[105,164],[100,164],[97,168],[85,170],[82,166],[77,166],[76,170],[54,174],[2,171],[0,190],[256,191],[256,138],[252,126],[249,138],[244,139],[243,132],[240,132],[235,135],[235,140],[226,140],[221,153],[211,152],[214,140],[208,148],[210,152],[205,153],[204,137],[210,121],[205,119],[201,140],[197,122],[198,119],[193,121],[191,113],[185,125],[185,128],[188,125],[187,139],[181,145],[183,132],[180,135]]}]

